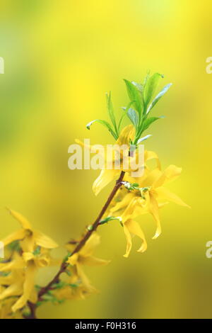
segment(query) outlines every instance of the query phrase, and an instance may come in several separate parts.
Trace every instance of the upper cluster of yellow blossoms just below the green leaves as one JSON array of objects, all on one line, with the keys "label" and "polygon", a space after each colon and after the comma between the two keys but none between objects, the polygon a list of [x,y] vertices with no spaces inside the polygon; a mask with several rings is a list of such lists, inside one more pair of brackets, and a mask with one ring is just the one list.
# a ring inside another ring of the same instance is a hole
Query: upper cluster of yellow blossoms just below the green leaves
[{"label": "upper cluster of yellow blossoms just below the green leaves", "polygon": [[[133,125],[128,125],[123,128],[116,142],[117,145],[129,145],[129,142],[134,140],[135,129]],[[82,142],[78,141],[81,145]],[[87,147],[91,152],[93,147]],[[129,145],[130,149],[130,145]],[[95,149],[94,149],[95,151]],[[121,159],[122,159],[122,151]],[[134,157],[129,157],[129,159],[136,159],[136,154]],[[155,159],[155,167],[151,169],[148,166],[148,161]],[[127,164],[126,164],[127,165]],[[128,165],[131,165],[130,163]],[[125,257],[129,256],[131,251],[131,235],[136,235],[141,238],[142,244],[138,252],[144,252],[147,248],[146,238],[141,230],[138,222],[134,219],[146,213],[151,213],[153,216],[157,228],[153,239],[156,239],[161,233],[160,226],[160,216],[159,208],[163,207],[169,202],[177,203],[178,205],[183,205],[189,207],[184,203],[175,193],[170,192],[164,187],[170,181],[173,181],[181,174],[182,169],[170,165],[164,171],[161,170],[160,160],[155,152],[147,151],[144,152],[144,172],[141,177],[132,178],[131,169],[126,169],[124,174],[124,182],[126,186],[119,188],[116,196],[114,196],[110,207],[107,209],[104,218],[108,217],[119,217],[122,221],[124,234],[126,236],[126,253]],[[120,170],[117,169],[102,169],[100,176],[95,180],[93,184],[93,191],[95,195],[98,195],[102,188],[107,186],[112,180],[117,178]],[[136,184],[130,189],[130,184]],[[129,185],[129,186],[128,186]]]}]

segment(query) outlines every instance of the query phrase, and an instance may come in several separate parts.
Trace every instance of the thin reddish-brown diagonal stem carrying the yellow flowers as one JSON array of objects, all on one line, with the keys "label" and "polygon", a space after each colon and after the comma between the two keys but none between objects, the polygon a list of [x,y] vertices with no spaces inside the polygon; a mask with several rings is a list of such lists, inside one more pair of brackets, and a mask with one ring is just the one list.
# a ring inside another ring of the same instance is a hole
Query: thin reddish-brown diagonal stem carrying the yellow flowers
[{"label": "thin reddish-brown diagonal stem carrying the yellow flowers", "polygon": [[[114,198],[114,196],[117,193],[117,191],[119,190],[119,188],[123,185],[124,174],[125,174],[125,172],[122,171],[121,174],[119,175],[119,179],[117,180],[114,188],[112,189],[112,192],[110,193],[110,196],[107,198],[107,201],[106,201],[105,205],[102,207],[102,210],[100,211],[100,213],[98,215],[98,218],[96,218],[96,220],[93,222],[93,225],[91,225],[89,230],[86,232],[86,235],[81,239],[81,242],[79,242],[76,245],[76,248],[73,250],[73,252],[70,254],[70,256],[73,256],[73,254],[76,254],[77,252],[79,252],[81,250],[81,248],[86,244],[86,242],[90,238],[90,236],[93,234],[93,232],[95,232],[95,230],[97,230],[98,226],[100,225],[100,220],[102,219],[102,216],[105,214],[107,208],[109,207],[112,199]],[[61,264],[61,267],[60,267],[59,271],[54,276],[52,281],[50,281],[47,284],[47,286],[40,289],[40,292],[38,293],[37,302],[42,301],[42,296],[45,295],[49,290],[51,290],[54,283],[59,282],[60,274],[64,273],[64,271],[66,271],[68,266],[69,266],[69,264],[67,264],[66,261],[64,261]],[[36,304],[33,304],[33,303],[28,303],[28,305],[29,305],[30,311],[31,311],[31,315],[28,318],[29,319],[35,319],[36,318],[35,311],[36,311],[37,306],[36,306]]]}]

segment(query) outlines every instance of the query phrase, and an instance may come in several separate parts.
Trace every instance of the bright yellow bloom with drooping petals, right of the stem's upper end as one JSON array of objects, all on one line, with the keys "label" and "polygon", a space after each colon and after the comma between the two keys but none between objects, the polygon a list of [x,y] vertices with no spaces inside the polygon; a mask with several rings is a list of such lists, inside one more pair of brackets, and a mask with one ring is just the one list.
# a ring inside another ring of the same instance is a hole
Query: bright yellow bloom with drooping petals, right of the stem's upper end
[{"label": "bright yellow bloom with drooping petals, right of the stem's upper end", "polygon": [[145,173],[141,178],[133,179],[129,174],[126,174],[125,181],[129,181],[131,184],[137,183],[141,189],[128,191],[126,188],[120,188],[109,210],[107,210],[108,216],[120,216],[122,218],[124,234],[126,236],[126,254],[124,256],[129,256],[129,252],[131,251],[131,234],[139,236],[142,239],[142,245],[138,252],[144,252],[147,247],[143,231],[138,222],[134,221],[134,218],[137,218],[139,215],[151,213],[157,224],[157,229],[153,237],[155,239],[161,233],[160,207],[163,207],[169,201],[189,207],[178,196],[163,186],[168,181],[176,179],[181,171],[181,168],[170,165],[165,171],[161,171],[158,167],[151,171],[146,167]]}]

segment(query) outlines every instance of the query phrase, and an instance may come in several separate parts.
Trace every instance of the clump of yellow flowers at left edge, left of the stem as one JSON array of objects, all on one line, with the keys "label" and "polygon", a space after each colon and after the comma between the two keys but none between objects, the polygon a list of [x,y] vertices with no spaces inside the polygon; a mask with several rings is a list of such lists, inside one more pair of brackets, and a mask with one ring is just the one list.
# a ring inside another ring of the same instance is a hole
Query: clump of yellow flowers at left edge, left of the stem
[{"label": "clump of yellow flowers at left edge, left of the stem", "polygon": [[0,272],[8,272],[8,275],[0,277],[0,285],[7,286],[1,292],[0,300],[18,296],[18,300],[11,307],[13,312],[16,312],[24,307],[28,300],[37,302],[35,274],[40,267],[52,264],[49,250],[57,247],[57,244],[41,232],[33,230],[23,215],[13,210],[10,210],[10,213],[20,222],[22,229],[13,232],[2,242],[7,246],[18,241],[20,250],[14,252],[8,261],[0,264]]}]

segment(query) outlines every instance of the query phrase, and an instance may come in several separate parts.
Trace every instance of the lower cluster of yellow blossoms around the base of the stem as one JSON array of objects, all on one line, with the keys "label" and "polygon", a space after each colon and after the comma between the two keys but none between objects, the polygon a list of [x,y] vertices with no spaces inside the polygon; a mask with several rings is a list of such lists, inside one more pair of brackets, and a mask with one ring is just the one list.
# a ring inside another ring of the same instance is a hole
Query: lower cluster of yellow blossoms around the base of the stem
[{"label": "lower cluster of yellow blossoms around the base of the stem", "polygon": [[[96,292],[83,272],[83,265],[100,266],[109,261],[95,258],[93,251],[100,243],[96,232],[88,239],[77,254],[68,256],[66,276],[61,276],[51,290],[39,299],[40,287],[36,286],[36,274],[47,266],[60,266],[61,260],[52,259],[50,250],[57,244],[33,230],[30,222],[23,215],[9,210],[13,218],[20,222],[21,229],[2,239],[5,257],[0,261],[0,318],[23,319],[30,315],[29,303],[40,305],[51,301],[61,303],[64,300],[85,298]],[[70,242],[66,248],[71,254],[76,242]]]}]

